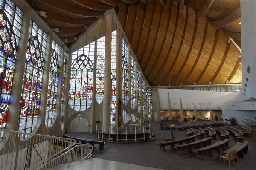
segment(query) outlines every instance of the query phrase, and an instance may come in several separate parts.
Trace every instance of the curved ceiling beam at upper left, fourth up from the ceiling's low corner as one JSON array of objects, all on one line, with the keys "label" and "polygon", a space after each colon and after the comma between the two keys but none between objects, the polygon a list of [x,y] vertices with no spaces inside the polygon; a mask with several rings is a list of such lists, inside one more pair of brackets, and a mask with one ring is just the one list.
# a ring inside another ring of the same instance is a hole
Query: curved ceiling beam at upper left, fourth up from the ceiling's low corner
[{"label": "curved ceiling beam at upper left, fourth up from the ceiling's low corner", "polygon": [[63,3],[58,0],[40,0],[43,3],[47,3],[49,6],[53,6],[57,9],[60,9],[65,12],[69,12],[72,14],[76,14],[83,17],[96,17],[98,15],[103,14],[105,11],[93,11],[93,10],[86,10],[84,8],[70,8],[70,5],[67,3]]}]

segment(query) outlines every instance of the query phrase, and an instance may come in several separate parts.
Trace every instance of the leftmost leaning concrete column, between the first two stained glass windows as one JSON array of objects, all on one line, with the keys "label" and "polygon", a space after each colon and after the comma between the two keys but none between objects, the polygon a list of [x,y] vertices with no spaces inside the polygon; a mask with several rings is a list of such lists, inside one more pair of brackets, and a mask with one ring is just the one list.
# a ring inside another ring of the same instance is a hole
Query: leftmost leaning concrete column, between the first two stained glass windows
[{"label": "leftmost leaning concrete column, between the first two stained glass windows", "polygon": [[6,121],[7,130],[18,131],[18,122],[20,114],[20,96],[23,84],[24,66],[26,61],[27,42],[29,37],[29,24],[31,19],[31,8],[28,8],[23,13],[22,29],[20,32],[20,41],[17,50],[17,61],[12,82],[11,99]]}]

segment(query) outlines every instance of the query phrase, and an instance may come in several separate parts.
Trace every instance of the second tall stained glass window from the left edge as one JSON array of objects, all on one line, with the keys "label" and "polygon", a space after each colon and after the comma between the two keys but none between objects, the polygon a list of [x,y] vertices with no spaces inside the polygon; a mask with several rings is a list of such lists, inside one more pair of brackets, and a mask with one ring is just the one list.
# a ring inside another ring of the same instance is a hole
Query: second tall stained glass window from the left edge
[{"label": "second tall stained glass window from the left edge", "polygon": [[21,132],[33,133],[38,122],[46,44],[47,34],[30,20],[20,102],[19,131]]}]

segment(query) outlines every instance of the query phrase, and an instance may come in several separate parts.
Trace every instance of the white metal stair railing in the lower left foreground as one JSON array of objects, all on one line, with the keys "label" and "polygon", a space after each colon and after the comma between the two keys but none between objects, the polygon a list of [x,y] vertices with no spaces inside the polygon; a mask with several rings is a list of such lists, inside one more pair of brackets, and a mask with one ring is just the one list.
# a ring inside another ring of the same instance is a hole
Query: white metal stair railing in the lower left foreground
[{"label": "white metal stair railing in the lower left foreground", "polygon": [[[70,138],[0,129],[0,170],[31,170],[91,158],[91,145]],[[26,139],[26,140],[25,140]]]}]

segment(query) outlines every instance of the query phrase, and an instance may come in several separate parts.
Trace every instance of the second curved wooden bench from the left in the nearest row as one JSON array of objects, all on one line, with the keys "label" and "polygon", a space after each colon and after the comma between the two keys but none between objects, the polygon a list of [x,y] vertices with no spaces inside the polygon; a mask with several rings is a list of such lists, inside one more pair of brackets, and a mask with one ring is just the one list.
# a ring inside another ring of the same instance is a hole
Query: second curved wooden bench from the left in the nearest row
[{"label": "second curved wooden bench from the left in the nearest row", "polygon": [[182,155],[182,150],[191,152],[192,149],[197,149],[197,148],[205,147],[207,145],[212,144],[211,139],[212,139],[212,137],[204,138],[204,139],[192,142],[192,143],[177,145],[177,146],[172,147],[172,148],[175,149],[175,152],[177,154]]}]

